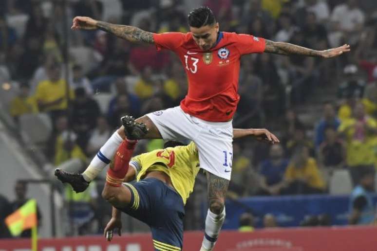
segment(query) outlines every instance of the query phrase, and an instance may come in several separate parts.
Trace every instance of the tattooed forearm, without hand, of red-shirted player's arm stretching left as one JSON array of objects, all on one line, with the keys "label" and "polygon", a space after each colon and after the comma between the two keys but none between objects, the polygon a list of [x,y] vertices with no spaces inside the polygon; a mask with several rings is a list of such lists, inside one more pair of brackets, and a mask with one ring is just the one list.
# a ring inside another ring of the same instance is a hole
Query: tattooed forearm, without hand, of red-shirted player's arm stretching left
[{"label": "tattooed forearm, without hand, of red-shirted player's arm stretching left", "polygon": [[128,25],[112,24],[107,22],[97,22],[97,27],[100,30],[109,32],[120,38],[126,39],[130,42],[153,43],[153,33],[143,31],[137,27]]}]

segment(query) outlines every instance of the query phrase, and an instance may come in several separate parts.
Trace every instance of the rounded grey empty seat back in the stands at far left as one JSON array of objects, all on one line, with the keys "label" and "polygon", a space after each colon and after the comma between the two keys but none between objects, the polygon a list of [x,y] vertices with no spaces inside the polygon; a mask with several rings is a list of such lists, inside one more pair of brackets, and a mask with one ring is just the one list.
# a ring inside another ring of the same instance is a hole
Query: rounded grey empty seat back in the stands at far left
[{"label": "rounded grey empty seat back in the stands at far left", "polygon": [[52,131],[51,119],[45,113],[23,114],[19,117],[19,125],[28,137],[26,142],[33,144],[46,143]]}]

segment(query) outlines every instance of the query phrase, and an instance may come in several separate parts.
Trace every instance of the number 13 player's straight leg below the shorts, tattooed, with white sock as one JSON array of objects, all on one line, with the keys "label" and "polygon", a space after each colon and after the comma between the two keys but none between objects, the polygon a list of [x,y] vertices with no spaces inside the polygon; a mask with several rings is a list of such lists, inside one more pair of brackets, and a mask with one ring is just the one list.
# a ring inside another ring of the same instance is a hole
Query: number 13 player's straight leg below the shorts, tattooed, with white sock
[{"label": "number 13 player's straight leg below the shorts, tattooed, with white sock", "polygon": [[213,250],[225,220],[225,198],[229,180],[207,172],[208,204],[209,209],[206,217],[201,251]]}]

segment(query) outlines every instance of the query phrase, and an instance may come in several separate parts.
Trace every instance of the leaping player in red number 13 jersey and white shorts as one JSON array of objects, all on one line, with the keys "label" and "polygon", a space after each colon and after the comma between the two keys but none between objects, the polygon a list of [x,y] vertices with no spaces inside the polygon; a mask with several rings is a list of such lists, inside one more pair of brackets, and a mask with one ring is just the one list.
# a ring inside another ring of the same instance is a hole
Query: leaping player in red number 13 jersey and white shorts
[{"label": "leaping player in red number 13 jersey and white shorts", "polygon": [[[133,132],[133,139],[189,139],[199,151],[201,168],[208,171],[209,210],[203,250],[212,250],[225,217],[225,194],[231,174],[232,117],[240,99],[237,94],[240,58],[245,54],[273,53],[330,58],[348,52],[349,45],[325,51],[273,42],[251,35],[219,32],[212,11],[199,7],[188,15],[190,32],[155,34],[128,25],[116,25],[88,17],[75,17],[72,29],[101,29],[130,42],[155,44],[178,55],[188,76],[188,94],[179,107],[147,114],[136,121],[149,132]],[[86,189],[88,182],[110,162],[125,136],[121,127],[101,147],[82,176],[72,175],[75,191]]]}]

